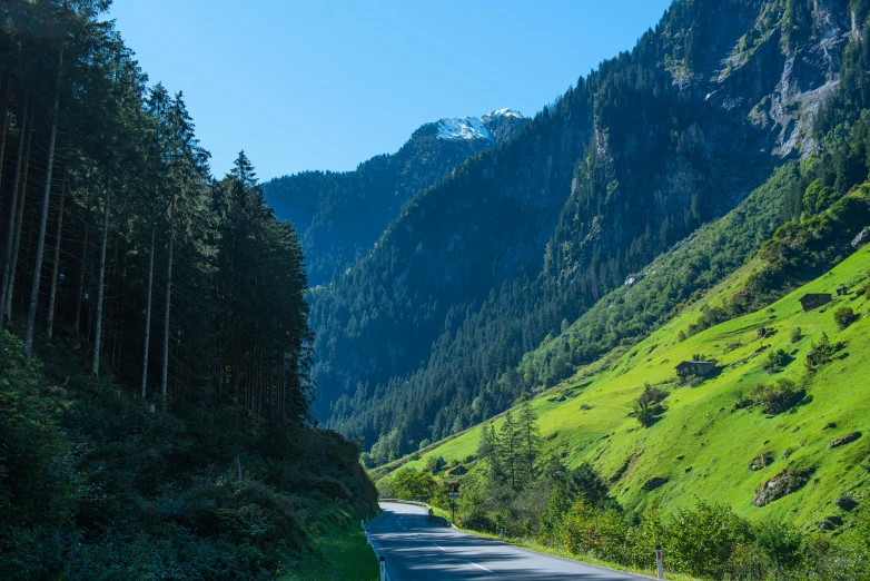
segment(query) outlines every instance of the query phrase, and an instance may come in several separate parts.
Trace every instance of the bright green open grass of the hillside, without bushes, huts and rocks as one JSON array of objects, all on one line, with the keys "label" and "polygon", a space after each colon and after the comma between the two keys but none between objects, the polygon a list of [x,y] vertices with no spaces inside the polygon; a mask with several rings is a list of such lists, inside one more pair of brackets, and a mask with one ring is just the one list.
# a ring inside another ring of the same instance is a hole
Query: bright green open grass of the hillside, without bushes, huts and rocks
[{"label": "bright green open grass of the hillside, without bushes, huts and rocks", "polygon": [[[860,496],[868,482],[870,321],[862,290],[870,252],[862,248],[769,308],[680,341],[702,307],[730,299],[759,266],[749,264],[641,343],[581,368],[571,381],[535,397],[532,405],[540,415],[544,452],[561,456],[569,466],[591,462],[610,480],[611,493],[635,512],[653,501],[671,512],[701,499],[729,504],[753,520],[771,518],[805,526],[832,515],[844,518],[833,502],[844,494]],[[849,287],[848,295],[803,312],[802,295],[833,295],[841,284]],[[841,331],[834,312],[844,305],[858,319]],[[768,329],[762,338],[758,338],[760,327]],[[792,343],[795,328],[802,335]],[[809,373],[807,353],[823,333],[841,348],[830,363]],[[769,353],[778,349],[790,354],[788,363],[781,372],[769,374],[763,365]],[[695,354],[715,358],[720,371],[696,386],[681,385],[674,367]],[[757,385],[781,378],[805,391],[797,406],[778,415],[765,415],[759,406],[735,407]],[[650,427],[632,416],[645,383],[670,392],[666,412]],[[500,423],[496,420],[496,426]],[[852,432],[864,435],[829,447],[834,439]],[[480,426],[407,466],[423,469],[428,456],[443,456],[447,463],[473,467],[468,459],[478,440]],[[751,461],[762,453],[769,465],[751,470]],[[753,505],[755,490],[785,469],[812,473],[795,492],[762,508]],[[654,479],[666,482],[646,491],[644,485],[649,488]]]}]

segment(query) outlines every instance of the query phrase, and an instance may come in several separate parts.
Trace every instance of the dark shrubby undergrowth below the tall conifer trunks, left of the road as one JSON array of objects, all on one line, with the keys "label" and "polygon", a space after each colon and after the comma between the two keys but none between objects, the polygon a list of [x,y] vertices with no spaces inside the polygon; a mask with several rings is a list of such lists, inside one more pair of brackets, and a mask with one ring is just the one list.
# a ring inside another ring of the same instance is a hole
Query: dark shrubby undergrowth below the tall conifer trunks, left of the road
[{"label": "dark shrubby undergrowth below the tall conifer trunks, left of the road", "polygon": [[151,414],[78,373],[50,387],[6,332],[0,377],[4,579],[269,578],[316,552],[320,519],[373,510],[335,432],[200,405]]}]

